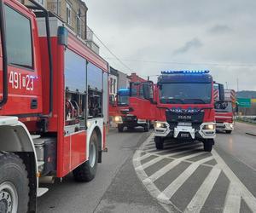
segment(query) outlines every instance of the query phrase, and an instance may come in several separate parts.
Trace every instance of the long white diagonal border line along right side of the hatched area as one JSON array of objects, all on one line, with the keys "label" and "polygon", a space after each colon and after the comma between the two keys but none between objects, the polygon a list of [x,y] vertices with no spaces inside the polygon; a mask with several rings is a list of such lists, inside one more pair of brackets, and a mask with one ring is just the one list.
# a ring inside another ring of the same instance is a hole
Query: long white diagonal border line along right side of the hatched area
[{"label": "long white diagonal border line along right side of the hatched area", "polygon": [[256,212],[256,199],[253,194],[245,187],[239,178],[234,174],[230,167],[224,162],[215,150],[212,150],[212,155],[217,161],[217,166],[224,171],[224,174],[230,179],[230,182],[235,184],[236,189],[241,193],[241,197],[247,203],[248,207]]}]

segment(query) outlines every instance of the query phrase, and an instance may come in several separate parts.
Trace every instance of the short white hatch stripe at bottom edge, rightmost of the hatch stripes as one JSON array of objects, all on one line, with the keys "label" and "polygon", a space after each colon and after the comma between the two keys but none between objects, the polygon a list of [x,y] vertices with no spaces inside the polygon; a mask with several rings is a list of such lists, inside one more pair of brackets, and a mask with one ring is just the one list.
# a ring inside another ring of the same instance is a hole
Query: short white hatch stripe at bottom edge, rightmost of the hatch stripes
[{"label": "short white hatch stripe at bottom edge, rightmost of the hatch stripes", "polygon": [[224,213],[239,213],[241,204],[241,193],[236,188],[236,184],[230,182],[229,190],[224,204]]}]

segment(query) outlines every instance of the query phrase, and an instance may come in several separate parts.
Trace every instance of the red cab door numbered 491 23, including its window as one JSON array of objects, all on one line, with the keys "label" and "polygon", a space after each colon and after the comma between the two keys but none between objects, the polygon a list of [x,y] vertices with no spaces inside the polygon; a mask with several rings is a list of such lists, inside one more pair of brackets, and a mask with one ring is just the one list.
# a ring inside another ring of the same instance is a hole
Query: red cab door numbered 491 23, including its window
[{"label": "red cab door numbered 491 23, including its window", "polygon": [[[37,114],[42,112],[42,89],[35,19],[15,1],[2,1],[1,8],[5,30],[1,27],[0,96],[2,99],[4,91],[8,91],[8,100],[0,113]],[[7,62],[5,67],[3,59]],[[4,73],[7,73],[7,78],[3,78]]]}]

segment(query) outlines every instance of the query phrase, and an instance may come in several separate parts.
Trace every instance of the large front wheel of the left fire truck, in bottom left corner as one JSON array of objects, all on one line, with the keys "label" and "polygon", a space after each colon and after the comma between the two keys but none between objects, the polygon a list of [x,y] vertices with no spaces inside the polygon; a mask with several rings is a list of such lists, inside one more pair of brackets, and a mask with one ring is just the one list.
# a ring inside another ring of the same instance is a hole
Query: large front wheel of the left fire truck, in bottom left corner
[{"label": "large front wheel of the left fire truck, in bottom left corner", "polygon": [[0,212],[26,213],[28,202],[25,164],[14,153],[0,153]]}]

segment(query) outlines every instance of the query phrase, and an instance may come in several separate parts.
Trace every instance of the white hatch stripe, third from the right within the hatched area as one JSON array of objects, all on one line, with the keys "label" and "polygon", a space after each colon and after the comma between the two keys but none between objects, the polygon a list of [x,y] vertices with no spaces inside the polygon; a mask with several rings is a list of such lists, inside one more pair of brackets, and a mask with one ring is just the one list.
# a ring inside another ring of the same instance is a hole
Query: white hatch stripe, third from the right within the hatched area
[{"label": "white hatch stripe, third from the right within the hatched area", "polygon": [[188,180],[189,176],[191,176],[195,172],[200,164],[203,164],[211,159],[212,156],[208,158],[203,158],[199,161],[196,161],[194,164],[189,165],[189,167],[184,170],[183,173],[177,177],[177,179],[172,181],[172,183],[168,187],[166,187],[166,189],[162,193],[160,193],[157,199],[159,199],[160,201],[171,199],[173,194],[176,193],[179,187],[181,187],[183,183]]}]

